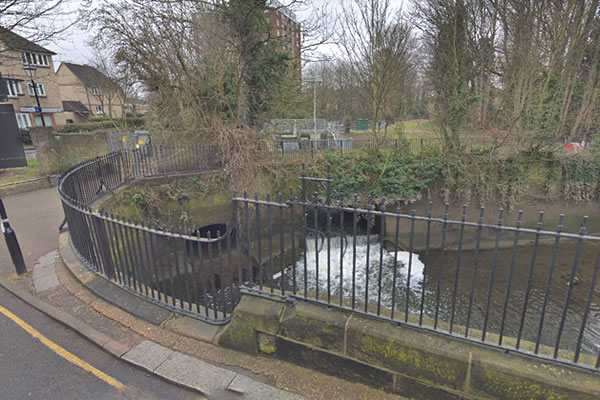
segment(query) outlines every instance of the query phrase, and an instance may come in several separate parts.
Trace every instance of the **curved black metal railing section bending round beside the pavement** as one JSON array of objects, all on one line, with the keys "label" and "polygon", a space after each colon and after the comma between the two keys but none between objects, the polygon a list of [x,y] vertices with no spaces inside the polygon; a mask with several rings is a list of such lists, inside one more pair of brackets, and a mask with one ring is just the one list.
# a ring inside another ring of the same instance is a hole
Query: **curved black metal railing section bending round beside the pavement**
[{"label": "curved black metal railing section bending round beside the pavement", "polygon": [[[201,237],[92,208],[94,201],[135,177],[219,165],[214,156],[201,159],[199,149],[160,147],[97,157],[62,174],[58,194],[71,246],[89,269],[151,302],[223,324],[239,300],[236,271],[224,261],[235,245],[233,224],[223,235]],[[205,149],[204,154],[215,153]]]}]

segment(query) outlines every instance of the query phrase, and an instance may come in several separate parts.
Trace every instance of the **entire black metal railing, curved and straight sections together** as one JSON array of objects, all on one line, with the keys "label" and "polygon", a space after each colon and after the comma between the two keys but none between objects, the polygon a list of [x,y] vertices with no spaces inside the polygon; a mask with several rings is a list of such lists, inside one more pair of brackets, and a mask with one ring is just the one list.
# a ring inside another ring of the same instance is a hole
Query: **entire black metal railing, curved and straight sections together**
[{"label": "entire black metal railing, curved and straight sections together", "polygon": [[563,215],[555,230],[544,229],[543,213],[509,223],[502,209],[488,217],[464,206],[451,218],[447,204],[346,198],[330,174],[307,177],[304,168],[299,192],[234,193],[231,222],[203,231],[91,208],[135,176],[221,165],[218,154],[188,150],[167,167],[176,150],[162,151],[96,158],[58,186],[80,260],[150,301],[222,324],[243,287],[600,367],[600,237],[588,234],[587,217],[576,233],[565,232]]}]

